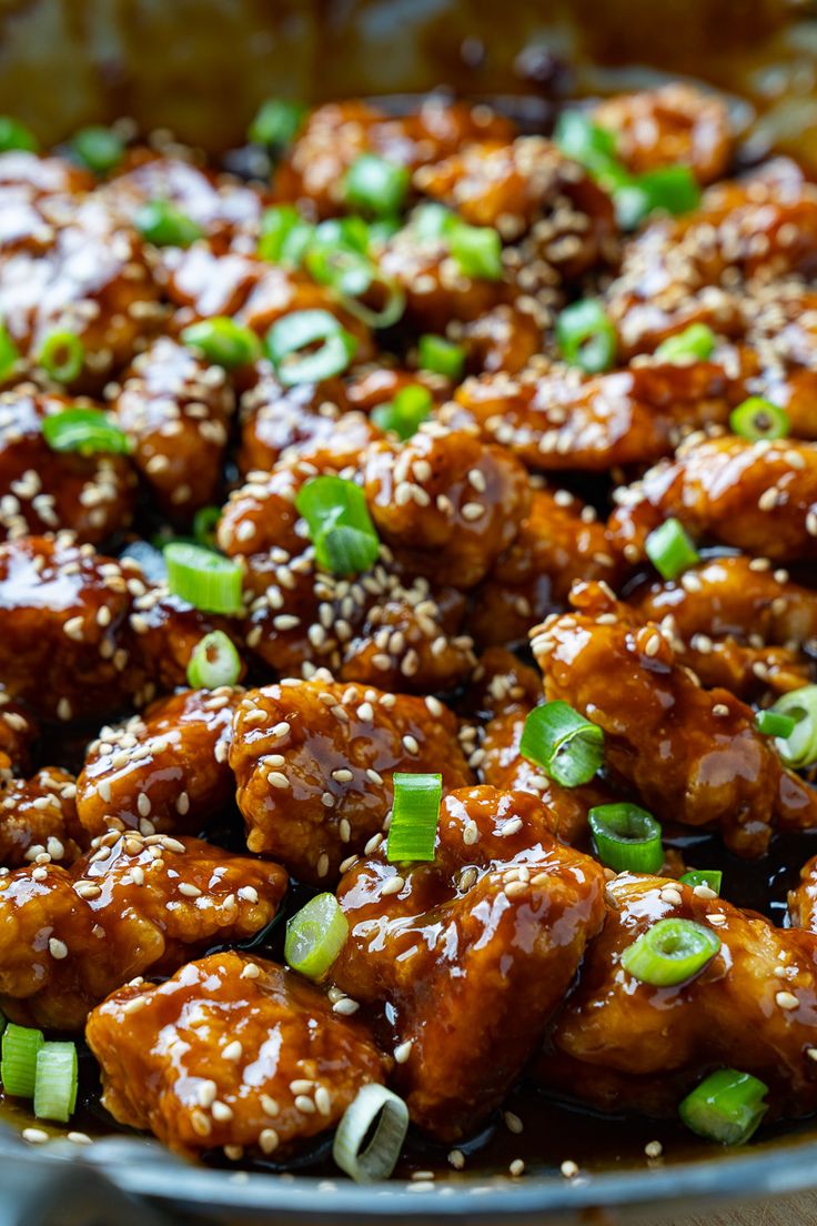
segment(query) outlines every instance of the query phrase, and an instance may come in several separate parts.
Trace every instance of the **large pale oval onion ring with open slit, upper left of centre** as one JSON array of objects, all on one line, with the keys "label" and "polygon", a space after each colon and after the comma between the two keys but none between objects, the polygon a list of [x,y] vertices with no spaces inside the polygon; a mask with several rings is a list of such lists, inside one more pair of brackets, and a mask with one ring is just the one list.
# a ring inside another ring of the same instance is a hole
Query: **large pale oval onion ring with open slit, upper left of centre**
[{"label": "large pale oval onion ring with open slit, upper left of centre", "polygon": [[[309,347],[322,341],[320,349]],[[285,387],[320,383],[345,370],[358,342],[328,310],[296,310],[282,315],[267,332],[263,348]]]}]

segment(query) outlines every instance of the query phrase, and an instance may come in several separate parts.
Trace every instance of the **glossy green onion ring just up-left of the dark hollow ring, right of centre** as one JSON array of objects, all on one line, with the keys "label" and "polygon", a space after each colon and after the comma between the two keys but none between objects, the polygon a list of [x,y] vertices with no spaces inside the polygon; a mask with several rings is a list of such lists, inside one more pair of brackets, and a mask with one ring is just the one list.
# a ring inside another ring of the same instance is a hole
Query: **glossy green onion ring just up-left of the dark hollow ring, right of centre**
[{"label": "glossy green onion ring just up-left of the dark hollow ring, right of centre", "polygon": [[604,761],[604,732],[567,702],[545,702],[524,721],[519,753],[562,787],[578,787]]}]

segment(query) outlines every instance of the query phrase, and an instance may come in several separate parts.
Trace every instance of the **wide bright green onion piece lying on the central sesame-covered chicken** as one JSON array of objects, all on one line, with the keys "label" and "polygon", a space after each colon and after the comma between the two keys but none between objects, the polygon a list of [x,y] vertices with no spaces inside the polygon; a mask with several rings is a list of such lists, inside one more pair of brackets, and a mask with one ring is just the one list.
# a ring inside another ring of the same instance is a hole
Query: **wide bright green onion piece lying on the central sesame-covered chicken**
[{"label": "wide bright green onion piece lying on the central sesame-covered chicken", "polygon": [[311,477],[295,497],[306,520],[315,558],[333,575],[356,575],[374,566],[380,541],[359,485],[343,477]]}]

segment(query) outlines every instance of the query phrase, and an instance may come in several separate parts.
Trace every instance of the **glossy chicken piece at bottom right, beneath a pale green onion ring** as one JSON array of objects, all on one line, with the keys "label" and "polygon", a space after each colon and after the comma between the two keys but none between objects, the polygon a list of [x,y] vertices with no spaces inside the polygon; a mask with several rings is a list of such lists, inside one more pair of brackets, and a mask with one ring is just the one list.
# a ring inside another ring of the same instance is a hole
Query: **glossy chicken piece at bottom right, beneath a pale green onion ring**
[{"label": "glossy chicken piece at bottom right, beneath a pale green onion ring", "polygon": [[[736,1065],[770,1087],[775,1114],[813,1111],[815,937],[774,928],[709,894],[623,873],[608,885],[604,929],[537,1068],[540,1080],[561,1089],[570,1080],[570,1092],[609,1107],[615,1078],[619,1110],[665,1114],[712,1069]],[[720,953],[679,987],[638,982],[620,965],[622,950],[676,917],[717,933]]]}]

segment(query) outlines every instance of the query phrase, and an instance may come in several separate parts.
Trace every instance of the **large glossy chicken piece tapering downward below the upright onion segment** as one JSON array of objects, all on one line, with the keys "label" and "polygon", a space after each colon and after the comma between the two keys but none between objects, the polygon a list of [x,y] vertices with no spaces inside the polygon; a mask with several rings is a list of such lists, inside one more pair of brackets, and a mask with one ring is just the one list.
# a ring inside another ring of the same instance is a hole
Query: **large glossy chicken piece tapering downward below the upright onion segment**
[{"label": "large glossy chicken piece tapering downward below the upright onion segment", "polygon": [[434,863],[390,864],[381,848],[341,881],[350,935],[332,976],[391,1007],[390,1043],[401,1056],[410,1045],[397,1086],[440,1140],[502,1100],[601,923],[601,869],[559,845],[552,824],[522,792],[457,791]]}]

